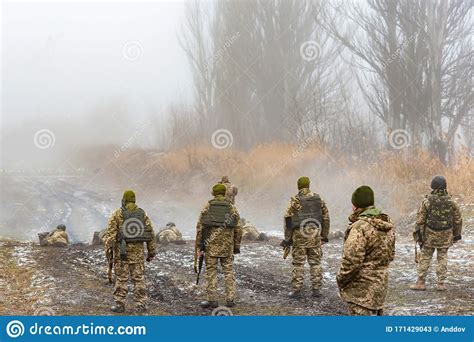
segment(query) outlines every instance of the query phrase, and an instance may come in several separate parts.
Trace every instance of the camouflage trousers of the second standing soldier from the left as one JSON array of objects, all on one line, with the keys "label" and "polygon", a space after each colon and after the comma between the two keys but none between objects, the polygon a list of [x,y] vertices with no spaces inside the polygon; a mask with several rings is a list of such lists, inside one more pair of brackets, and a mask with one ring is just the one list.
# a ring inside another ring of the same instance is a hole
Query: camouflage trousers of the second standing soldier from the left
[{"label": "camouflage trousers of the second standing soldier from the left", "polygon": [[235,298],[234,256],[218,258],[206,255],[206,291],[208,301],[217,301],[217,264],[220,262],[224,272],[225,298]]}]

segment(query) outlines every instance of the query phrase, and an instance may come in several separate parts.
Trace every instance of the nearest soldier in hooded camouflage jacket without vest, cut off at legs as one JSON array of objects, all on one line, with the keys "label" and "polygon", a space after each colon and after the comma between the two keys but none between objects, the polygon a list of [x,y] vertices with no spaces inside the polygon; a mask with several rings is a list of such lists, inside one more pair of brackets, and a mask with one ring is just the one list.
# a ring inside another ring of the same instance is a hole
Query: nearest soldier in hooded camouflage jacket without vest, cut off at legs
[{"label": "nearest soldier in hooded camouflage jacket without vest, cut off at legs", "polygon": [[344,238],[336,280],[350,315],[383,314],[388,266],[395,256],[395,228],[388,215],[374,207],[366,185],[352,194],[352,215]]}]

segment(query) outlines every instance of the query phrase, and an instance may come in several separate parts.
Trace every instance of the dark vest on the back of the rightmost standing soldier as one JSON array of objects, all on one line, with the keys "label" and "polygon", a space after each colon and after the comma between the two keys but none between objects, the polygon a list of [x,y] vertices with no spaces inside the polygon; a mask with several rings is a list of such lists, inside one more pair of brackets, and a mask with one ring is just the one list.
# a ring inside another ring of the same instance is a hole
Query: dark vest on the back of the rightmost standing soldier
[{"label": "dark vest on the back of the rightmost standing soldier", "polygon": [[426,217],[426,225],[435,231],[453,228],[453,206],[450,197],[432,194],[428,196],[430,207]]}]

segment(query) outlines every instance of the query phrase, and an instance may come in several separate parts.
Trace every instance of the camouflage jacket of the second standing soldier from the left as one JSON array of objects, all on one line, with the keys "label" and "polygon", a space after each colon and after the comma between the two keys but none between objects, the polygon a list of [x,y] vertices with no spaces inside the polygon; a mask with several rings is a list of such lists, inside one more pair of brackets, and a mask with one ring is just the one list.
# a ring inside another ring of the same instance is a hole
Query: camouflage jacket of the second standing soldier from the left
[{"label": "camouflage jacket of the second standing soldier from the left", "polygon": [[[215,199],[225,200],[224,196],[216,196]],[[233,255],[235,248],[240,248],[240,242],[242,240],[242,227],[239,213],[235,206],[232,205],[231,215],[234,216],[237,221],[237,225],[234,228],[205,228],[202,224],[202,218],[208,210],[209,203],[207,203],[204,209],[201,211],[198,223],[196,225],[195,250],[196,252],[199,251],[201,249],[201,244],[204,243],[205,252],[207,255],[221,258],[230,257]]]}]

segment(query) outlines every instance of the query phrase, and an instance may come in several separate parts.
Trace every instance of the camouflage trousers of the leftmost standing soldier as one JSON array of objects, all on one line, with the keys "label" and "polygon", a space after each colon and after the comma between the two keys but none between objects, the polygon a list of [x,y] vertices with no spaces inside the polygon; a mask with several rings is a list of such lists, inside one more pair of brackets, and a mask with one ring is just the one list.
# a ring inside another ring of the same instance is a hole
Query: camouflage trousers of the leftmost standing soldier
[{"label": "camouflage trousers of the leftmost standing soldier", "polygon": [[145,264],[118,261],[115,263],[114,300],[124,304],[128,294],[128,279],[132,280],[133,296],[136,304],[145,305],[147,294],[145,288]]}]

